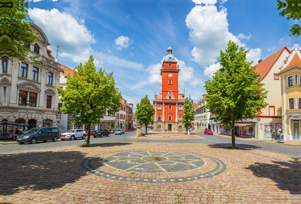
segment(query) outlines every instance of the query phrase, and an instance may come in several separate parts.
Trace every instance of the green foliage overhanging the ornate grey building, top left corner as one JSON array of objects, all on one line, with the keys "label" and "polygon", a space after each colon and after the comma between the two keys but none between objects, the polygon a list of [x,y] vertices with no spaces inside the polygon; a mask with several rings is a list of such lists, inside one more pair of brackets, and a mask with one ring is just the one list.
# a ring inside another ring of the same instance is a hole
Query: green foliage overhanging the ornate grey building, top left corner
[{"label": "green foliage overhanging the ornate grey building, top left corner", "polygon": [[[30,48],[25,43],[33,43],[37,35],[29,28],[26,20],[28,2],[24,0],[2,0],[0,2],[0,56],[17,57],[26,60]],[[29,57],[35,63],[38,56]]]}]

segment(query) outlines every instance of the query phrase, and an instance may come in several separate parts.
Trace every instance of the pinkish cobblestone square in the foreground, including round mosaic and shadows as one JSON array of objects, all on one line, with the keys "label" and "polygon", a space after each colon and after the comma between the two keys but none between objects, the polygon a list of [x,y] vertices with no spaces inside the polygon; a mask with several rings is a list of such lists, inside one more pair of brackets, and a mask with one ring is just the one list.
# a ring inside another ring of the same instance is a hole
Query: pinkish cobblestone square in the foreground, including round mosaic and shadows
[{"label": "pinkish cobblestone square in the foreground, including round mosaic and shadows", "polygon": [[0,203],[301,203],[300,163],[196,143],[110,141],[12,153],[0,161]]}]

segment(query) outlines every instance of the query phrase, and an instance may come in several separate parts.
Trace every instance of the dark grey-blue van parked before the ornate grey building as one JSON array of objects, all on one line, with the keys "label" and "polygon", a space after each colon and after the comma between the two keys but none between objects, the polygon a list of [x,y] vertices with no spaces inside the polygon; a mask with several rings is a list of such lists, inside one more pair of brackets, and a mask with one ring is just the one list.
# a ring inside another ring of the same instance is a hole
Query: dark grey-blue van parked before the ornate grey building
[{"label": "dark grey-blue van parked before the ornate grey building", "polygon": [[23,144],[25,142],[30,142],[30,144],[36,144],[37,141],[46,142],[47,140],[52,140],[54,142],[59,138],[59,129],[51,127],[39,127],[32,128],[24,134],[17,137],[17,142]]}]

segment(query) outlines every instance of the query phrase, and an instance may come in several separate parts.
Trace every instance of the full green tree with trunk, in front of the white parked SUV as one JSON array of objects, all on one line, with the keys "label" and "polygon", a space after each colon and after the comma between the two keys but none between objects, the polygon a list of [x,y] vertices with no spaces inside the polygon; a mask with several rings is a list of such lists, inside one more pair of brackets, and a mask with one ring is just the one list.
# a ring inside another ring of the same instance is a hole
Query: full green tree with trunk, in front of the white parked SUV
[{"label": "full green tree with trunk, in front of the white parked SUV", "polygon": [[73,77],[68,74],[65,90],[55,87],[62,96],[59,100],[64,102],[61,111],[73,114],[73,123],[88,125],[86,147],[90,145],[91,125],[100,124],[106,111],[114,114],[121,107],[121,94],[115,88],[113,72],[107,74],[101,68],[96,72],[93,61],[91,55],[84,66],[80,63]]}]

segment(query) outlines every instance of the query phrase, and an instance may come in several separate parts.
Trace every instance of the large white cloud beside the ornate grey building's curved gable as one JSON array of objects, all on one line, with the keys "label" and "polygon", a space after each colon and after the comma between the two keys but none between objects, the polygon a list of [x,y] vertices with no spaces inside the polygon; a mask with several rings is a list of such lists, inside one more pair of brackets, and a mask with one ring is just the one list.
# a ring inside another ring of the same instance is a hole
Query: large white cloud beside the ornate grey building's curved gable
[{"label": "large white cloud beside the ornate grey building's curved gable", "polygon": [[[92,53],[90,44],[95,40],[83,24],[83,20],[78,21],[70,14],[60,12],[56,8],[51,10],[29,8],[28,14],[34,23],[46,33],[48,41],[52,44],[50,46],[52,51],[56,50],[57,45],[60,45],[61,57],[68,57],[78,63],[88,60]],[[95,60],[95,64],[97,64],[97,60]]]}]

